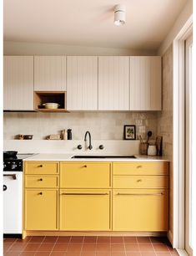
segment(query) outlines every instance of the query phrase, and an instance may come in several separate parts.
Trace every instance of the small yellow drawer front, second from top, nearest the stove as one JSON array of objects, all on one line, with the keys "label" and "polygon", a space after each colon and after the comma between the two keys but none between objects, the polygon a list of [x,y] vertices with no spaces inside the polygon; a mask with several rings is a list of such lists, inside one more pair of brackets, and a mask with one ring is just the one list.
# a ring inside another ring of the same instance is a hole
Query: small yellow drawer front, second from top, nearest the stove
[{"label": "small yellow drawer front, second from top, nearest the stove", "polygon": [[58,187],[58,177],[26,176],[25,187]]}]

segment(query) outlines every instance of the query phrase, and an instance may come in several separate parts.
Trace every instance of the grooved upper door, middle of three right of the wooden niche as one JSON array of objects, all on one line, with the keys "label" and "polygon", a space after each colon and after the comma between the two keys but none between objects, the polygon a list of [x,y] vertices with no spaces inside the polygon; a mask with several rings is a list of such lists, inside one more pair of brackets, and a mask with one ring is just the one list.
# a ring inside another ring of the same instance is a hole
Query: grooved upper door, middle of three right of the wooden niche
[{"label": "grooved upper door, middle of three right of the wooden niche", "polygon": [[98,57],[98,110],[129,110],[129,57]]}]

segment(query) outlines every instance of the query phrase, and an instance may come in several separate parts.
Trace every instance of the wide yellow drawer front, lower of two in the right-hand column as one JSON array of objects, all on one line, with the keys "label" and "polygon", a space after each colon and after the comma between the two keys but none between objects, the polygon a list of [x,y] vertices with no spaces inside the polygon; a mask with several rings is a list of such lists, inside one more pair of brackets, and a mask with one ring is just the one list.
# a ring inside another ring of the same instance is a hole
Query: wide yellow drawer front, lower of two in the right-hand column
[{"label": "wide yellow drawer front, lower of two in the right-hand column", "polygon": [[114,176],[113,188],[168,188],[168,176]]}]

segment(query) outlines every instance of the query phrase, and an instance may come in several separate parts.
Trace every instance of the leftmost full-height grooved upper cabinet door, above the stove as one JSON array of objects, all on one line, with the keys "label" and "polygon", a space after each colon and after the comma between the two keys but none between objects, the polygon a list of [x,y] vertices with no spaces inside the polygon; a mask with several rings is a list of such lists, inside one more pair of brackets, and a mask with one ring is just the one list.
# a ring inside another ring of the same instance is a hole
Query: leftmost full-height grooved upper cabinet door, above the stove
[{"label": "leftmost full-height grooved upper cabinet door, above the stove", "polygon": [[33,56],[4,56],[4,110],[33,110]]}]

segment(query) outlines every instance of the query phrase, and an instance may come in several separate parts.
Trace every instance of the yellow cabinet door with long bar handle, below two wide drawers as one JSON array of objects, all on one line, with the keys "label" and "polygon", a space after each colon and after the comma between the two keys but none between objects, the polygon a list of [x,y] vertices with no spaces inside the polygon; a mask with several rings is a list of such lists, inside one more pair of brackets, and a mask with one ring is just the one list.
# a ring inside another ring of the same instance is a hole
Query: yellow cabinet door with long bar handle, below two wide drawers
[{"label": "yellow cabinet door with long bar handle, below two wide drawers", "polygon": [[168,190],[113,190],[113,231],[168,231]]}]

